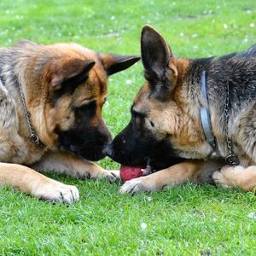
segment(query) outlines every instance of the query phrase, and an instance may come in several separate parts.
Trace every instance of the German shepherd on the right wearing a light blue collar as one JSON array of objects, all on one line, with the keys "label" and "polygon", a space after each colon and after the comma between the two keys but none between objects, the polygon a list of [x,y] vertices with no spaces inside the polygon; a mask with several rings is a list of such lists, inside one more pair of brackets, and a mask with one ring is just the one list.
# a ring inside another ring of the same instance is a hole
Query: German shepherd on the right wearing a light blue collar
[{"label": "German shepherd on the right wearing a light blue collar", "polygon": [[[180,59],[159,32],[144,26],[141,51],[146,83],[135,97],[130,123],[106,151],[124,165],[148,161],[160,171],[126,182],[120,192],[160,190],[188,180],[255,188],[256,45],[219,58]],[[201,108],[207,111],[207,129]],[[240,164],[226,165],[228,155]]]}]

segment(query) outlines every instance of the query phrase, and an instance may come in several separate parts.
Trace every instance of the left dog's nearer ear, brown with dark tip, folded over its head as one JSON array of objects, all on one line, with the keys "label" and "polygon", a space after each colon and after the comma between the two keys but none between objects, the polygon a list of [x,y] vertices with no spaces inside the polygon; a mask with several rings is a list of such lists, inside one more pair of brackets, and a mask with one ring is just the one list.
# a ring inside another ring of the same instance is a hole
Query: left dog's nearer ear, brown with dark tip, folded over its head
[{"label": "left dog's nearer ear, brown with dark tip, folded over its head", "polygon": [[95,61],[84,61],[71,59],[55,61],[51,63],[49,72],[49,84],[59,89],[61,87],[73,87],[84,83],[88,78],[90,69],[95,65]]}]

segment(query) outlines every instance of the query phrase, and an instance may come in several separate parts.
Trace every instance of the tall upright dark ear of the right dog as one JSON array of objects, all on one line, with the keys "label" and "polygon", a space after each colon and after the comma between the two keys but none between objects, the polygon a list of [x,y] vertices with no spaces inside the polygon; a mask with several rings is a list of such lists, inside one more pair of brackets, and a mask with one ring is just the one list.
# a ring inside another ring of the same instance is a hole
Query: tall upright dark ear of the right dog
[{"label": "tall upright dark ear of the right dog", "polygon": [[168,86],[168,71],[171,71],[169,62],[172,52],[165,39],[152,26],[143,26],[141,51],[145,78],[150,85]]}]

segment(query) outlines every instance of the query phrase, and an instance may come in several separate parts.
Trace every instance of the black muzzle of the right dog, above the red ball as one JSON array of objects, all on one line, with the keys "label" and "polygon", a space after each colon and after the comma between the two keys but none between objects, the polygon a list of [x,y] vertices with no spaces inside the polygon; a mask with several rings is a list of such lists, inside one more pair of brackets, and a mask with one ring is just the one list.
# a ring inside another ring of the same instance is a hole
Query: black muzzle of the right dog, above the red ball
[{"label": "black muzzle of the right dog, above the red ball", "polygon": [[156,140],[150,131],[143,127],[143,119],[130,123],[108,146],[108,156],[127,166],[146,166],[148,158],[154,170],[160,170],[182,161],[177,157],[168,138]]}]

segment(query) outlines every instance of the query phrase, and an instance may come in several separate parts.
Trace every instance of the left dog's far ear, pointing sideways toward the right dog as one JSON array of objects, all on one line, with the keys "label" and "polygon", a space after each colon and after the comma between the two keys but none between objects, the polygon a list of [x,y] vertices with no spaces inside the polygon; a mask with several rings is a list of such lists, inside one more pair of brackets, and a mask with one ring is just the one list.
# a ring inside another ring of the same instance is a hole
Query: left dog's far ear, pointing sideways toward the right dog
[{"label": "left dog's far ear, pointing sideways toward the right dog", "polygon": [[108,55],[101,54],[102,65],[108,76],[118,73],[128,67],[131,67],[141,58],[138,55]]}]

